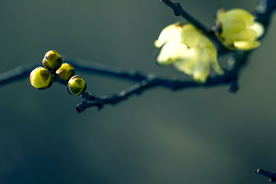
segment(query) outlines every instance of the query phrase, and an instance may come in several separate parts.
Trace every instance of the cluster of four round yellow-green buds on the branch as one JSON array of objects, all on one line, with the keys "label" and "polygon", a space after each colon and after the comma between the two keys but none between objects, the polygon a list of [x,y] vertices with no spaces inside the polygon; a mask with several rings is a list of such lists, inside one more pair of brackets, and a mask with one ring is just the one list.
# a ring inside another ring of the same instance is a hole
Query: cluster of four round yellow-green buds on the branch
[{"label": "cluster of four round yellow-green buds on the branch", "polygon": [[47,89],[52,86],[53,80],[59,78],[66,81],[66,91],[71,95],[81,95],[86,90],[84,80],[75,75],[75,68],[68,63],[62,63],[60,54],[49,51],[45,54],[42,64],[30,74],[31,84],[37,89]]}]

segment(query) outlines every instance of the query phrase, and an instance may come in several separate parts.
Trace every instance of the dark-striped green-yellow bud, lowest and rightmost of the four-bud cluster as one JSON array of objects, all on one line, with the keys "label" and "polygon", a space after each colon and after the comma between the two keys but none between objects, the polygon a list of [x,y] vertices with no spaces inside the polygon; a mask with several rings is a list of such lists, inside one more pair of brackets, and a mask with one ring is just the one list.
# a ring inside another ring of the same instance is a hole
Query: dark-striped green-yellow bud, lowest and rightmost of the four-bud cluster
[{"label": "dark-striped green-yellow bud, lowest and rightmost of the four-bud cluster", "polygon": [[80,95],[86,90],[86,84],[80,76],[73,76],[67,83],[66,91],[71,95]]}]

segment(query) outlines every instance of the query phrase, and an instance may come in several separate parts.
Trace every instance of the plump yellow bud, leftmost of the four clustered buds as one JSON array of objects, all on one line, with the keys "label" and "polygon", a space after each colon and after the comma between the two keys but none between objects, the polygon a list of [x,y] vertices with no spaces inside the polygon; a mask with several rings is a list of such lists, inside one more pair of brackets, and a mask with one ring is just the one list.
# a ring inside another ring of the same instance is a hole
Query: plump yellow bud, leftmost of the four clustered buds
[{"label": "plump yellow bud, leftmost of the four clustered buds", "polygon": [[30,74],[31,84],[38,89],[46,89],[53,84],[53,76],[44,67],[37,67]]}]

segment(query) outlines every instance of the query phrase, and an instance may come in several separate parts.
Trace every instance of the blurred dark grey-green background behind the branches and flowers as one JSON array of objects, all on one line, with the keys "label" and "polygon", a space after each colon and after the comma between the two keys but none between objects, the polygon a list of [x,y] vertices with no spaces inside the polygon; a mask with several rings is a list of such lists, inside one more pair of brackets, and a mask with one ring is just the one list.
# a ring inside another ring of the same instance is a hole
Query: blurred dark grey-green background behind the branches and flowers
[{"label": "blurred dark grey-green background behind the branches and flowers", "polygon": [[[211,26],[218,7],[254,11],[258,1],[177,2]],[[0,17],[0,73],[56,50],[183,76],[153,62],[154,40],[180,19],[158,0],[2,0]],[[276,171],[275,18],[242,70],[236,94],[227,86],[156,88],[78,114],[82,99],[60,84],[37,90],[25,78],[2,86],[0,183],[268,183],[255,170]],[[129,86],[77,74],[96,95]]]}]

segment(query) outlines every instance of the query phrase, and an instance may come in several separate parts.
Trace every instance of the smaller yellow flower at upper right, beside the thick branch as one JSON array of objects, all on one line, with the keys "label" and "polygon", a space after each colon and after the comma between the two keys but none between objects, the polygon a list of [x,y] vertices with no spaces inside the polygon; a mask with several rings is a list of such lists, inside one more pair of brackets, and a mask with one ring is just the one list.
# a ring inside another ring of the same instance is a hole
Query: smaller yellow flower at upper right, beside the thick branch
[{"label": "smaller yellow flower at upper right, beside the thick branch", "polygon": [[221,42],[231,50],[248,51],[259,47],[258,41],[264,34],[264,26],[255,21],[256,17],[243,9],[224,11],[219,9],[216,25],[220,31],[217,35]]}]

